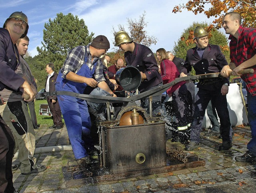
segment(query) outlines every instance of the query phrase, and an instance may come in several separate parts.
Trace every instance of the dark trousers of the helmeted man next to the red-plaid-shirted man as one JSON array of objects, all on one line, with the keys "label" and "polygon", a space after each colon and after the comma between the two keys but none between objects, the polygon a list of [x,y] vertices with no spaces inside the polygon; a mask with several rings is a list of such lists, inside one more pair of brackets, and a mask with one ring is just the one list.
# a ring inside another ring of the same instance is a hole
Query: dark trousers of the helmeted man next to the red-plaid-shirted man
[{"label": "dark trousers of the helmeted man next to the red-plaid-shirted man", "polygon": [[203,90],[199,88],[198,93],[196,94],[195,112],[190,131],[191,141],[199,142],[200,140],[199,137],[202,130],[205,110],[211,99],[216,108],[218,116],[220,117],[220,131],[222,133],[222,140],[230,141],[229,132],[231,123],[228,113],[228,102],[226,96],[221,94],[220,88],[215,90]]}]

